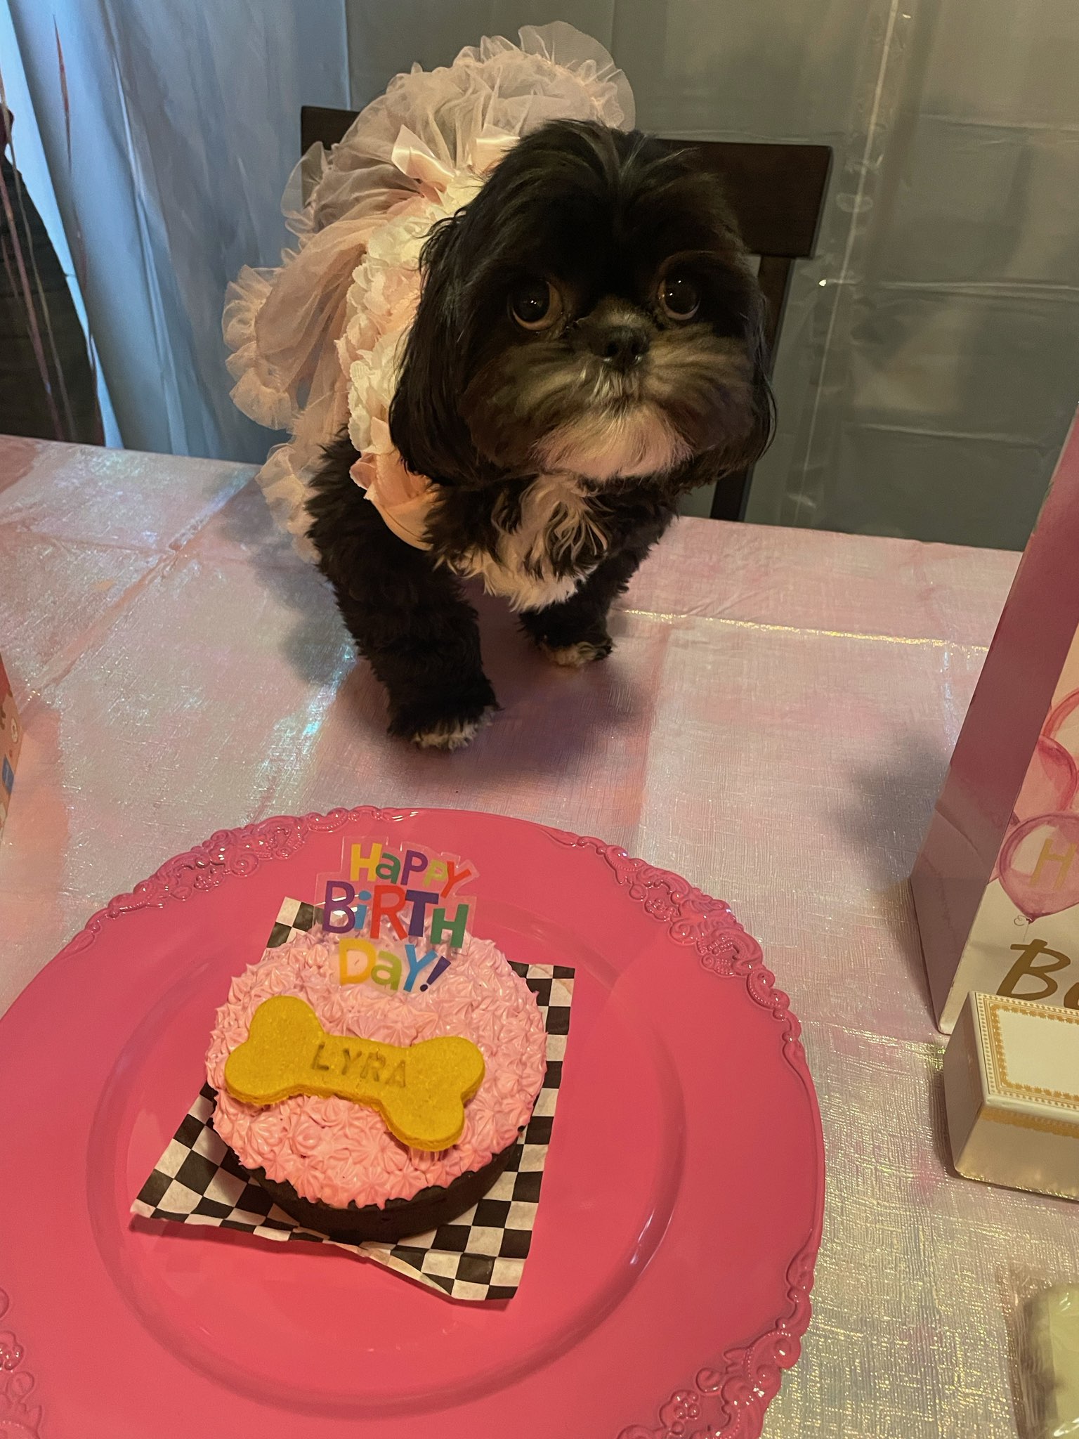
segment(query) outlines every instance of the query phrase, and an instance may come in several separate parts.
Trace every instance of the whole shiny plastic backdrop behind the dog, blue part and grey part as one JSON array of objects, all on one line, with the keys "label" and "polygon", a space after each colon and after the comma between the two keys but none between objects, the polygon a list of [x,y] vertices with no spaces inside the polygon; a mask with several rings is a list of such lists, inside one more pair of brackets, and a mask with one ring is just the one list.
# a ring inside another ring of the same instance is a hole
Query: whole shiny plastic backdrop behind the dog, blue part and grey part
[{"label": "whole shiny plastic backdrop behind the dog, blue part and grey part", "polygon": [[413,60],[564,19],[611,50],[645,128],[834,147],[750,518],[1026,541],[1079,376],[1073,4],[10,3],[125,443],[265,458],[272,436],[227,400],[219,318],[226,281],[285,240],[301,104],[358,106]]}]

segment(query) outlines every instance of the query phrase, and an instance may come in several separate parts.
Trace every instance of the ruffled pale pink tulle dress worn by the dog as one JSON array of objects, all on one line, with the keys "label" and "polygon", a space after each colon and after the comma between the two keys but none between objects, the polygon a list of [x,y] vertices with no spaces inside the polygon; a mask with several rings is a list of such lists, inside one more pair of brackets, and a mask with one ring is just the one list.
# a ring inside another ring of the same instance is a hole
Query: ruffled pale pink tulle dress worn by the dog
[{"label": "ruffled pale pink tulle dress worn by the dog", "polygon": [[483,39],[442,69],[413,66],[338,145],[315,145],[292,173],[282,209],[296,248],[276,269],[240,271],[223,331],[236,406],[289,432],[259,484],[305,555],[308,485],[345,426],[360,452],[357,484],[403,538],[423,544],[427,482],[404,469],[387,423],[420,249],[506,148],[550,119],[633,125],[626,76],[561,22],[527,26],[519,45]]}]

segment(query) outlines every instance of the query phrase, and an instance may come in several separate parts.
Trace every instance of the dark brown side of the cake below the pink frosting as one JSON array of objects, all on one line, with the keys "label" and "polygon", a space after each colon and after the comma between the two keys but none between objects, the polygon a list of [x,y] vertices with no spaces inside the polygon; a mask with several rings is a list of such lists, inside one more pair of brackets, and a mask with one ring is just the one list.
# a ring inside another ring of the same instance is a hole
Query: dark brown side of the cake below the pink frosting
[{"label": "dark brown side of the cake below the pink frosting", "polygon": [[514,1144],[508,1144],[482,1168],[459,1174],[446,1186],[432,1184],[411,1199],[387,1199],[386,1204],[364,1204],[363,1209],[352,1203],[347,1209],[337,1209],[319,1199],[304,1199],[288,1180],[268,1179],[262,1168],[250,1170],[250,1176],[262,1184],[275,1204],[305,1229],[317,1229],[347,1243],[358,1245],[374,1239],[393,1245],[410,1235],[423,1235],[439,1225],[447,1225],[479,1203],[509,1163]]}]

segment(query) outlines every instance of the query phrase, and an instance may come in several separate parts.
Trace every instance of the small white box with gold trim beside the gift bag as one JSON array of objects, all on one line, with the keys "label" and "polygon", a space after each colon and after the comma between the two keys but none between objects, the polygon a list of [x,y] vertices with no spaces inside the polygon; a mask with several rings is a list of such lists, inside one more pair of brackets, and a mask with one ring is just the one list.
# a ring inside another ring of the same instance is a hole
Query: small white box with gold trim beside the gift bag
[{"label": "small white box with gold trim beside the gift bag", "polygon": [[968,994],[944,1098],[960,1174],[1079,1199],[1079,1012]]}]

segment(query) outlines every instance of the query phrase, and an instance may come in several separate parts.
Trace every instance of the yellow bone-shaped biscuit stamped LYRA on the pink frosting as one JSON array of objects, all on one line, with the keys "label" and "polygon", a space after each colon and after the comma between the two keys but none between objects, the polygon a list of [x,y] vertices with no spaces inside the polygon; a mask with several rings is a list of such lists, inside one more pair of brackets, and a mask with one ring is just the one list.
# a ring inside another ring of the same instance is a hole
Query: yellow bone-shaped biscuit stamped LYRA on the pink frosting
[{"label": "yellow bone-shaped biscuit stamped LYRA on the pink frosting", "polygon": [[247,1038],[224,1062],[224,1085],[242,1104],[293,1094],[340,1095],[378,1109],[390,1134],[416,1150],[445,1150],[465,1128],[465,1104],[483,1082],[470,1039],[419,1045],[328,1035],[302,999],[276,994],[252,1014]]}]

